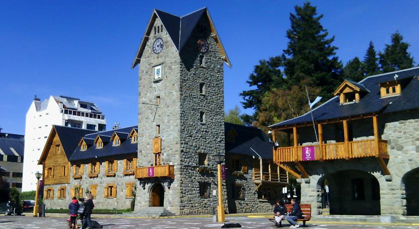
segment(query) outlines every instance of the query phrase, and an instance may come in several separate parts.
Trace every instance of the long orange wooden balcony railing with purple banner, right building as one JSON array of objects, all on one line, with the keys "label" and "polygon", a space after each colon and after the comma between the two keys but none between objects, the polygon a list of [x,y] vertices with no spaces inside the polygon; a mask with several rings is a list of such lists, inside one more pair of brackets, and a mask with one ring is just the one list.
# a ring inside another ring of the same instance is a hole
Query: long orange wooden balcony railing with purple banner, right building
[{"label": "long orange wooden balcony railing with purple banner, right building", "polygon": [[[302,161],[302,148],[310,145],[297,147],[278,147],[273,149],[273,160],[277,163]],[[361,157],[378,157],[387,154],[387,140],[375,139],[327,143],[314,146],[314,160],[334,160]],[[321,148],[321,150],[320,150]],[[377,150],[378,148],[378,150]]]}]

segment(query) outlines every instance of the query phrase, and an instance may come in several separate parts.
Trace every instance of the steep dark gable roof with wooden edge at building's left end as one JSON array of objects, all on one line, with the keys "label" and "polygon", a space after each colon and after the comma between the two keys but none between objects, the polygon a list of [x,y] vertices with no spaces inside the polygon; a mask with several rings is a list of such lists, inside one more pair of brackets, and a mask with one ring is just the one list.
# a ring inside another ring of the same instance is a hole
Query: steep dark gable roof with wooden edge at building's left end
[{"label": "steep dark gable roof with wooden edge at building's left end", "polygon": [[61,125],[53,125],[51,128],[51,132],[48,135],[48,139],[46,140],[45,146],[42,150],[42,154],[39,158],[38,165],[42,164],[43,160],[46,158],[52,140],[55,137],[55,134],[58,135],[58,138],[61,142],[61,146],[64,149],[65,156],[69,160],[71,155],[73,154],[74,150],[77,148],[78,143],[80,142],[80,138],[86,134],[98,132],[96,130],[89,130],[89,129],[80,129],[80,128],[73,128]]}]

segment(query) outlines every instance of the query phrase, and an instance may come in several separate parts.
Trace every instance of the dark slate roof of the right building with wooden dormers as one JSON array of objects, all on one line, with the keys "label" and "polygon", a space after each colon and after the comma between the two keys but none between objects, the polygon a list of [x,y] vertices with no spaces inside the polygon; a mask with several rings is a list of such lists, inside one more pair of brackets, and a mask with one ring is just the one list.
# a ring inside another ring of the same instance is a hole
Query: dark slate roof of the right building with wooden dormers
[{"label": "dark slate roof of the right building with wooden dormers", "polygon": [[[369,91],[361,96],[359,102],[340,105],[339,96],[335,96],[326,103],[313,109],[313,118],[315,121],[321,121],[360,114],[390,113],[417,109],[419,108],[419,100],[417,99],[419,97],[418,76],[419,67],[369,76],[357,84],[357,87],[358,85],[362,85]],[[380,84],[394,81],[395,77],[402,84],[402,94],[381,98]],[[301,116],[270,125],[269,127],[281,127],[311,121],[311,115],[308,112]]]}]

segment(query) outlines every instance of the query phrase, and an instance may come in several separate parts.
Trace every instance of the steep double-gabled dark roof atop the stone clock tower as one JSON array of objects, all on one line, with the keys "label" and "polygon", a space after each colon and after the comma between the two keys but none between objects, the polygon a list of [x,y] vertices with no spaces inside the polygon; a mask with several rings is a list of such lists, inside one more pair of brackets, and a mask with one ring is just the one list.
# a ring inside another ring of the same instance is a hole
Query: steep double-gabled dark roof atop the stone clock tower
[{"label": "steep double-gabled dark roof atop the stone clock tower", "polygon": [[150,17],[149,23],[147,25],[146,32],[144,33],[140,46],[137,50],[137,54],[131,65],[131,69],[133,69],[141,61],[141,57],[143,56],[146,43],[149,39],[150,33],[153,28],[153,24],[156,21],[156,18],[160,19],[160,21],[163,24],[163,27],[169,34],[173,42],[173,45],[175,46],[178,53],[180,53],[182,49],[184,48],[185,44],[187,43],[189,37],[191,36],[192,31],[194,30],[198,21],[203,15],[208,17],[208,21],[210,22],[211,36],[217,43],[218,49],[220,50],[220,53],[222,55],[222,59],[224,60],[225,64],[227,64],[228,67],[231,67],[231,63],[227,57],[227,53],[225,52],[224,47],[222,46],[221,40],[218,36],[218,33],[215,30],[215,26],[211,19],[210,12],[208,11],[208,8],[205,7],[195,12],[184,15],[182,17],[176,16],[176,15],[173,15],[173,14],[170,14],[170,13],[158,10],[158,9],[154,9]]}]

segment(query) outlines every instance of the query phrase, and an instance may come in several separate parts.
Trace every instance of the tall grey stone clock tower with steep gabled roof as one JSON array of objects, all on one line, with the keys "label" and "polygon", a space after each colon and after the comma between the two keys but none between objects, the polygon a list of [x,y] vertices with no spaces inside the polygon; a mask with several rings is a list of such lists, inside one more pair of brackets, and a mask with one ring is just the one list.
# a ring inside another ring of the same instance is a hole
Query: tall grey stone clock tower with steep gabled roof
[{"label": "tall grey stone clock tower with steep gabled roof", "polygon": [[231,67],[207,8],[182,17],[153,11],[132,65],[139,65],[135,212],[210,213],[213,155],[224,154],[224,63]]}]

